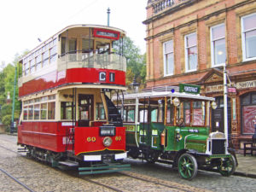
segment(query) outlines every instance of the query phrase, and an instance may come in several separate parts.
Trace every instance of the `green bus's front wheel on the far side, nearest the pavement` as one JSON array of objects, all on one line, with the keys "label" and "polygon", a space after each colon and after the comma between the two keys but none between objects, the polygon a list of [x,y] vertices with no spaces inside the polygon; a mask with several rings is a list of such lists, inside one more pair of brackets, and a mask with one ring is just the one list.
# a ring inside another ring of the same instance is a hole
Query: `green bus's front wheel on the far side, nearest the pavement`
[{"label": "green bus's front wheel on the far side, nearest the pavement", "polygon": [[236,172],[236,159],[234,155],[231,154],[229,158],[221,158],[220,165],[218,167],[218,172],[224,176],[229,177],[234,172]]}]

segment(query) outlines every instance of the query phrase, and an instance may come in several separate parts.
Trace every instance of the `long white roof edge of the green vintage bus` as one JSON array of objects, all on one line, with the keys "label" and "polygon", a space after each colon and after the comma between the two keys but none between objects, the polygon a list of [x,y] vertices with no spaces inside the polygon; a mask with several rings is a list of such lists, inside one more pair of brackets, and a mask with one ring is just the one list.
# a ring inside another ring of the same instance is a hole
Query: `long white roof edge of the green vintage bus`
[{"label": "long white roof edge of the green vintage bus", "polygon": [[[199,94],[189,94],[189,93],[181,93],[181,92],[173,92],[172,91],[151,91],[151,92],[139,92],[139,93],[127,93],[124,94],[125,99],[135,99],[135,98],[155,98],[155,97],[178,97],[178,98],[190,98],[190,99],[198,99],[205,101],[215,101],[215,98],[208,96],[200,96]],[[114,99],[114,96],[113,96]]]}]

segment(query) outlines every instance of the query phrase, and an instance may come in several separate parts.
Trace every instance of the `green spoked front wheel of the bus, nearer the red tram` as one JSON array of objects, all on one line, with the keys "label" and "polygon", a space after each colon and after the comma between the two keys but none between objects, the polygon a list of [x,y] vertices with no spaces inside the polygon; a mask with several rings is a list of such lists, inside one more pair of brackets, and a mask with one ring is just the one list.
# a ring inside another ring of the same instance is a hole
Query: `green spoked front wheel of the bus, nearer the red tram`
[{"label": "green spoked front wheel of the bus, nearer the red tram", "polygon": [[177,162],[178,174],[184,179],[191,180],[197,174],[197,162],[192,154],[182,154]]}]

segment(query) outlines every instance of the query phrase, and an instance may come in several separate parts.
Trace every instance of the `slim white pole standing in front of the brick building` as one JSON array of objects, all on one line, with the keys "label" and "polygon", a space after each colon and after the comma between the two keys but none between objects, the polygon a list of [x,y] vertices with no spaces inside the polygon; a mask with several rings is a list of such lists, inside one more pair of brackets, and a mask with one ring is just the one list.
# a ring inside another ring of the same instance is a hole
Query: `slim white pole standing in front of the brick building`
[{"label": "slim white pole standing in front of the brick building", "polygon": [[226,62],[224,64],[224,73],[223,73],[224,77],[224,135],[226,138],[226,145],[227,147],[229,147],[229,130],[228,130],[228,84],[227,84],[227,71],[226,71]]}]

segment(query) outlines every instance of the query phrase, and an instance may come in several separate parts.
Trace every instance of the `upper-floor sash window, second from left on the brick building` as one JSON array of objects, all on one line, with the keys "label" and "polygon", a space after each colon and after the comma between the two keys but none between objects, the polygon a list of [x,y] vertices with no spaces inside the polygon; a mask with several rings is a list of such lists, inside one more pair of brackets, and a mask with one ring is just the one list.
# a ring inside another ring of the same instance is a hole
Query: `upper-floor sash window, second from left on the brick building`
[{"label": "upper-floor sash window, second from left on the brick building", "polygon": [[185,36],[186,72],[196,71],[197,68],[197,38],[196,33]]}]

